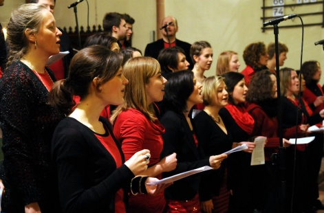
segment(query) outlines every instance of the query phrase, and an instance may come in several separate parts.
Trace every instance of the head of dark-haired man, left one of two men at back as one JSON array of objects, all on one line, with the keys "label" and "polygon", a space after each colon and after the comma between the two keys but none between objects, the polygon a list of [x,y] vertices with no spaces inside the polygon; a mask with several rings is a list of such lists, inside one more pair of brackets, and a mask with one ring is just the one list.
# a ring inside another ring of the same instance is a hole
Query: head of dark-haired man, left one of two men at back
[{"label": "head of dark-haired man, left one of two men at back", "polygon": [[122,47],[128,31],[124,16],[118,12],[109,12],[105,14],[102,27],[105,32],[117,38],[120,47]]}]

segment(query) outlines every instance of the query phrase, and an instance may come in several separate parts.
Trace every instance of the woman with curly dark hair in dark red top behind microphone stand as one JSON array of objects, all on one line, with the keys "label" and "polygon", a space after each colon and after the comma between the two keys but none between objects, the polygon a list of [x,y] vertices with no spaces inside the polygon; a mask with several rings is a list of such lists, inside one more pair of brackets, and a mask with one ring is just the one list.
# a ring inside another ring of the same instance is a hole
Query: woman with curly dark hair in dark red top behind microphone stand
[{"label": "woman with curly dark hair in dark red top behind microphone stand", "polygon": [[[269,70],[259,71],[252,77],[248,89],[246,100],[250,104],[247,111],[255,120],[251,136],[261,135],[268,141],[264,150],[266,164],[251,167],[251,177],[255,177],[250,193],[253,208],[262,212],[279,212],[280,174],[270,161],[270,155],[277,153],[279,147],[277,78]],[[283,146],[289,145],[288,140],[283,139]]]}]

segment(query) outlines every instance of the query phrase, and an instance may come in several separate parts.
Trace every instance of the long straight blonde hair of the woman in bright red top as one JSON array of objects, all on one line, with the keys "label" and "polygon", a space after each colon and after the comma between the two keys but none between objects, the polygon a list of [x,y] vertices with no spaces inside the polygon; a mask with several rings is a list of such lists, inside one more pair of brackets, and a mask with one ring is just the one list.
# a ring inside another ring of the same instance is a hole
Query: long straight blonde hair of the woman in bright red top
[{"label": "long straight blonde hair of the woman in bright red top", "polygon": [[122,67],[122,74],[129,80],[125,86],[124,103],[117,107],[111,115],[111,123],[114,124],[117,116],[127,109],[137,109],[149,120],[157,120],[153,104],[147,104],[147,93],[145,86],[149,84],[149,78],[161,71],[158,60],[151,57],[131,58]]}]

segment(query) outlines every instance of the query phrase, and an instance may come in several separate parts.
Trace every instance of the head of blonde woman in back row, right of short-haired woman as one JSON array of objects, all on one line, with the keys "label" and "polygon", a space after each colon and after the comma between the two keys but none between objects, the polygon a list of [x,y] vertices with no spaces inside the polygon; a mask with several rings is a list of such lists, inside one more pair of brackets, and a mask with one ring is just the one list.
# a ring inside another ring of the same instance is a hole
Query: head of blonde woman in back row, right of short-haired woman
[{"label": "head of blonde woman in back row, right of short-haired woman", "polygon": [[239,58],[237,57],[237,52],[228,50],[222,52],[217,59],[216,65],[216,75],[222,76],[222,74],[226,74],[228,71],[239,71]]}]

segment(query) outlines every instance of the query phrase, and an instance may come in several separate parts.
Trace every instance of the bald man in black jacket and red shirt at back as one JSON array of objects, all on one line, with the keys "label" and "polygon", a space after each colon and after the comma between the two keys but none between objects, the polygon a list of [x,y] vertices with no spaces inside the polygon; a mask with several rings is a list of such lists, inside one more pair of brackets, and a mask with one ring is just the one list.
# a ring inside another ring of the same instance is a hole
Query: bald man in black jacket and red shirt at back
[{"label": "bald man in black jacket and red shirt at back", "polygon": [[[169,25],[167,25],[166,28],[162,29],[162,38],[153,43],[149,43],[145,48],[144,56],[150,56],[152,58],[158,59],[158,55],[161,49],[178,46],[184,49],[184,52],[186,53],[186,60],[188,60],[188,63],[190,63],[189,69],[193,69],[193,62],[191,61],[190,56],[191,44],[175,38],[175,34],[178,30],[177,19],[175,19],[173,16],[166,16],[162,21],[161,27],[166,24]],[[168,34],[166,34],[166,31],[168,32]],[[169,45],[168,35],[171,45]]]}]

